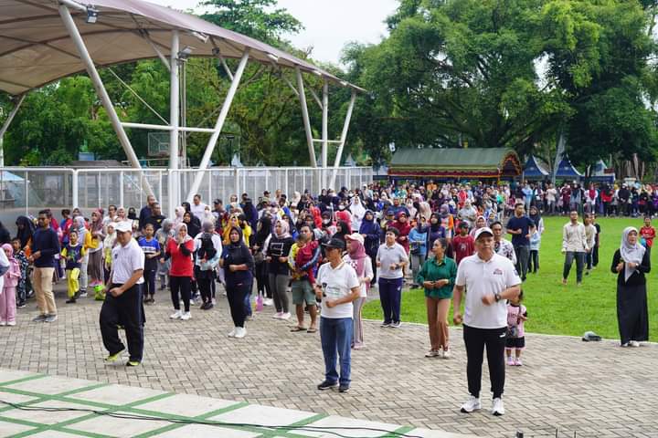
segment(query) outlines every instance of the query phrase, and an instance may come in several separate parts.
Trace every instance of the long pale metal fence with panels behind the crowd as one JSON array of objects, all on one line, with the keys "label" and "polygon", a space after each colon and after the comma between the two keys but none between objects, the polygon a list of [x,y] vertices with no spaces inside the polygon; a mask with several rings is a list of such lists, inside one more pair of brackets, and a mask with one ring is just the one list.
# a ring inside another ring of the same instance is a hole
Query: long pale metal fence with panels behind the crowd
[{"label": "long pale metal fence with panels behind the crowd", "polygon": [[[130,168],[0,168],[0,221],[14,233],[16,216],[33,214],[44,208],[55,212],[63,208],[80,207],[85,214],[94,208],[106,208],[109,204],[135,207],[138,211],[146,203],[147,186],[162,204],[163,212],[169,211],[170,175],[180,179],[180,196],[187,192],[197,172],[204,172],[199,194],[205,203],[220,198],[228,203],[231,194],[249,193],[254,201],[266,190],[281,190],[292,196],[294,192],[311,193],[320,190],[331,181],[333,169],[313,167],[252,167],[198,169]],[[338,169],[334,183],[340,187],[356,188],[371,183],[370,167],[342,167]],[[59,217],[59,214],[57,214]]]}]

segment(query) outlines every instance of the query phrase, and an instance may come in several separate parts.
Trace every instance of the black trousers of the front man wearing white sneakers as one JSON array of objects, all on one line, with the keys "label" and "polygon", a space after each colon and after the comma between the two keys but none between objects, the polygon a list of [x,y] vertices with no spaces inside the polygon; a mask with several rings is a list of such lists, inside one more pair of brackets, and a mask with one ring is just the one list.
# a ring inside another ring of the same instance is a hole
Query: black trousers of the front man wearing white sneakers
[{"label": "black trousers of the front man wearing white sneakers", "polygon": [[480,397],[482,389],[482,366],[484,347],[487,350],[489,379],[493,398],[499,398],[504,391],[504,347],[507,328],[472,328],[463,326],[464,344],[466,344],[466,376],[469,393]]}]

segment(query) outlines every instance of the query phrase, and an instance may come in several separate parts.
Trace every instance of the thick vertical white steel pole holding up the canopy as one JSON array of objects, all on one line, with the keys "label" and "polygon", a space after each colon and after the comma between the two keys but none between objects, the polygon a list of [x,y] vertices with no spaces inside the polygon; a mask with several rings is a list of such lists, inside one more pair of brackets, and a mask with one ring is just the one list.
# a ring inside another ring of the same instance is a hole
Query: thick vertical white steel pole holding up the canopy
[{"label": "thick vertical white steel pole holding up the canopy", "polygon": [[169,217],[175,217],[175,207],[180,203],[180,168],[178,156],[178,120],[180,118],[180,94],[178,78],[178,47],[180,36],[172,31],[171,68],[169,68]]}]

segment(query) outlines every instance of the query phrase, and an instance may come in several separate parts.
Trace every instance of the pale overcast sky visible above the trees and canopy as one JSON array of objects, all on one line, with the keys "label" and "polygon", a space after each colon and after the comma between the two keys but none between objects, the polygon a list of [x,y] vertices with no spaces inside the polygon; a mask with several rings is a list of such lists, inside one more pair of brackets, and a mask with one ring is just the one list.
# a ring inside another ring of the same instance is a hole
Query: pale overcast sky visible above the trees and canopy
[{"label": "pale overcast sky visible above the trees and canopy", "polygon": [[[149,0],[176,9],[196,9],[198,0]],[[295,47],[313,47],[312,57],[338,63],[346,43],[378,43],[386,33],[384,19],[398,0],[279,0],[302,22],[299,35],[288,36]]]}]

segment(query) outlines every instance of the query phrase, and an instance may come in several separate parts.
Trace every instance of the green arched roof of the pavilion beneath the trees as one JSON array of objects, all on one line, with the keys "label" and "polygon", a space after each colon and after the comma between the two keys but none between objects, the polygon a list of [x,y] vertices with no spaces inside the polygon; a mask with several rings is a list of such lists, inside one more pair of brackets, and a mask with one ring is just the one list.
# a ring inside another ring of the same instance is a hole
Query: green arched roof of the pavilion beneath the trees
[{"label": "green arched roof of the pavilion beneath the trees", "polygon": [[441,177],[500,177],[521,174],[515,151],[504,148],[400,149],[389,174]]}]

